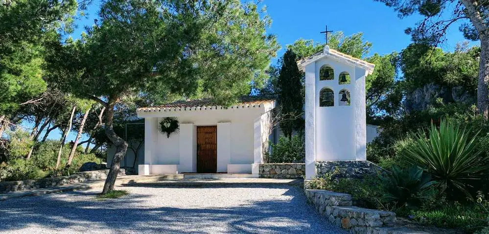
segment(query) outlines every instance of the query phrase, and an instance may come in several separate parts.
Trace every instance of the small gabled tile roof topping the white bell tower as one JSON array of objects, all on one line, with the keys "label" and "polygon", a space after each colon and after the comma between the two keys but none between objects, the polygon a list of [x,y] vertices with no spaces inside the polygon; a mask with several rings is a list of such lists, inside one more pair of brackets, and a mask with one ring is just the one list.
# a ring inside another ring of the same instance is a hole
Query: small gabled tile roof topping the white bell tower
[{"label": "small gabled tile roof topping the white bell tower", "polygon": [[375,65],[372,63],[363,61],[361,59],[352,57],[348,54],[344,54],[344,53],[339,52],[337,50],[331,49],[328,46],[326,46],[323,51],[317,52],[317,53],[315,53],[309,57],[306,57],[306,58],[303,58],[303,59],[297,61],[297,66],[299,67],[300,70],[304,70],[304,68],[307,64],[310,64],[310,63],[312,63],[312,62],[314,62],[320,58],[323,58],[326,55],[330,55],[334,58],[343,60],[347,63],[351,63],[353,65],[362,67],[365,70],[367,70],[369,72],[369,74],[372,74],[373,68],[375,67]]}]

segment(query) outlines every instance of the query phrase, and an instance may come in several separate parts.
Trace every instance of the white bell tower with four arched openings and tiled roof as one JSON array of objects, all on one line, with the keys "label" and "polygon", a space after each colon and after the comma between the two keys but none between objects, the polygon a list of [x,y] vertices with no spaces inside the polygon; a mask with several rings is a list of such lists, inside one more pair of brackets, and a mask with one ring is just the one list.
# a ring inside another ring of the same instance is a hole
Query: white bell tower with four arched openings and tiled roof
[{"label": "white bell tower with four arched openings and tiled roof", "polygon": [[306,179],[318,162],[366,161],[365,77],[374,65],[327,45],[297,64],[305,72]]}]

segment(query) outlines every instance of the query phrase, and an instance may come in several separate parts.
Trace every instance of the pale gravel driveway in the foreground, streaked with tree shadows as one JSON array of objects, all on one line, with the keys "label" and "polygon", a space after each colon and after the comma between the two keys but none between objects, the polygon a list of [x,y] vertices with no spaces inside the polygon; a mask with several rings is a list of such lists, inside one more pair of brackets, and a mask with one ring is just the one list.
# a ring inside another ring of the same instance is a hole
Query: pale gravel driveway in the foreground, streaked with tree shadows
[{"label": "pale gravel driveway in the foreground, streaked with tree shadows", "polygon": [[126,189],[130,195],[98,201],[97,189],[0,201],[0,232],[344,233],[306,203],[299,187],[116,189]]}]

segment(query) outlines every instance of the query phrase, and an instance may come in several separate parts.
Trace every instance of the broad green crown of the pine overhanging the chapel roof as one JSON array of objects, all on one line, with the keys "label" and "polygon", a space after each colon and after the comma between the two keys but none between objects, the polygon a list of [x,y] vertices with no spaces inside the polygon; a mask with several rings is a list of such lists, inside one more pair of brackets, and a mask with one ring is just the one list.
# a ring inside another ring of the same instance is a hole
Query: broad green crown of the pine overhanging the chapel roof
[{"label": "broad green crown of the pine overhanging the chapel roof", "polygon": [[99,23],[53,62],[72,61],[63,66],[72,77],[67,86],[82,96],[162,92],[233,104],[252,80],[262,83],[279,46],[255,4],[199,2],[106,1]]}]

